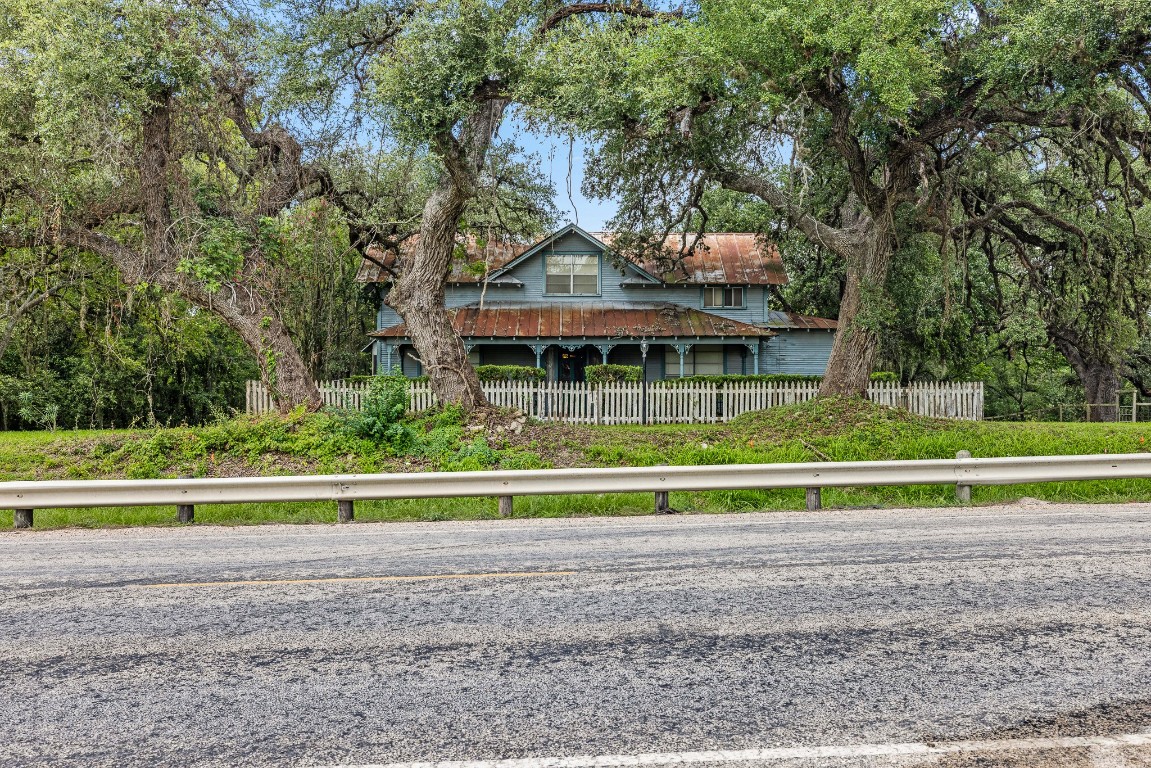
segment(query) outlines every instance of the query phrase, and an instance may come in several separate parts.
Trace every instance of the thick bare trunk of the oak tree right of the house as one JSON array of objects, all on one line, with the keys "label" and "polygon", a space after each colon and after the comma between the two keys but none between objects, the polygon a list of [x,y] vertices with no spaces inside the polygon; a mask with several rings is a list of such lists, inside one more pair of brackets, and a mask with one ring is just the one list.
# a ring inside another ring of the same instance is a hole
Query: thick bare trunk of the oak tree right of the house
[{"label": "thick bare trunk of the oak tree right of the house", "polygon": [[869,310],[885,290],[893,246],[890,228],[882,221],[872,221],[854,252],[844,254],[847,274],[839,304],[839,329],[820,386],[821,397],[867,397],[879,351],[879,332],[869,318]]}]

